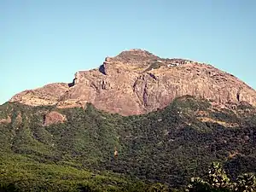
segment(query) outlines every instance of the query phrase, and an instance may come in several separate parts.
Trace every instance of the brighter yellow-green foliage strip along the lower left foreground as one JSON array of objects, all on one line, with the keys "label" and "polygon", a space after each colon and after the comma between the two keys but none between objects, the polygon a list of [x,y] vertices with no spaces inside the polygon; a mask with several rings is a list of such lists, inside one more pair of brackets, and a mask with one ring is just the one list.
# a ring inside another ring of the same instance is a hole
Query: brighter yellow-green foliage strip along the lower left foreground
[{"label": "brighter yellow-green foliage strip along the lower left foreground", "polygon": [[[92,173],[59,164],[45,164],[22,155],[1,155],[1,188],[7,191],[145,191],[136,179],[111,172]],[[0,188],[0,189],[1,189]]]}]

